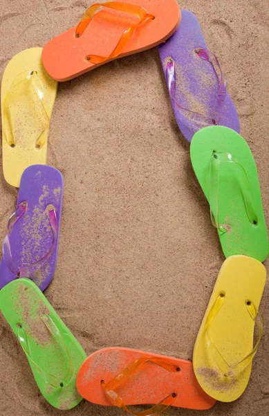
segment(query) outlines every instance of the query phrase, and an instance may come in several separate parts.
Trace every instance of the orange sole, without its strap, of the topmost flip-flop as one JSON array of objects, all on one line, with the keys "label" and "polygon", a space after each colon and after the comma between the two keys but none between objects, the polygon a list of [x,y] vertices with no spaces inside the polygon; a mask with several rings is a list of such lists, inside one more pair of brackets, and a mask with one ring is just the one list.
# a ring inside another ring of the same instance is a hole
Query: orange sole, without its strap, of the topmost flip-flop
[{"label": "orange sole, without its strap, of the topmost flip-flop", "polygon": [[[117,58],[145,51],[164,42],[180,24],[176,0],[124,0],[124,3],[142,6],[155,19],[145,21],[136,28]],[[74,26],[44,46],[42,60],[46,71],[55,80],[66,81],[99,67],[104,62],[93,64],[85,59],[86,55],[109,56],[122,33],[137,22],[137,17],[118,10],[104,9],[98,12],[81,37],[75,37],[77,26]]]}]

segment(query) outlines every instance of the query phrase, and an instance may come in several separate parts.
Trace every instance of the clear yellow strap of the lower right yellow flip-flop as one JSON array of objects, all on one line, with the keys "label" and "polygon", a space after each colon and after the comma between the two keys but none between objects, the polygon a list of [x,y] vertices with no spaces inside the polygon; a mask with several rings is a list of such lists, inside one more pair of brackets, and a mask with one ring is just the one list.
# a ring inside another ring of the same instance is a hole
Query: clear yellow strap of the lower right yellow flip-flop
[{"label": "clear yellow strap of the lower right yellow flip-flop", "polygon": [[210,312],[207,315],[207,321],[205,323],[205,337],[206,337],[206,343],[207,343],[207,349],[210,351],[210,354],[212,358],[214,358],[214,361],[216,365],[219,367],[221,372],[225,376],[232,376],[234,373],[239,373],[245,370],[245,367],[248,367],[248,365],[252,362],[254,355],[257,353],[257,349],[259,347],[259,343],[261,340],[261,336],[263,334],[263,322],[261,319],[261,315],[259,314],[259,311],[257,311],[256,307],[250,300],[245,301],[245,308],[247,309],[248,313],[250,314],[250,318],[254,321],[255,324],[257,324],[258,330],[259,330],[259,336],[257,339],[257,343],[254,346],[254,348],[247,354],[245,357],[243,357],[238,363],[235,364],[228,364],[221,352],[219,351],[218,347],[214,343],[214,340],[212,339],[212,336],[210,335],[210,327],[212,325],[212,322],[214,321],[214,318],[216,318],[216,315],[221,310],[221,306],[223,306],[223,303],[225,302],[226,295],[225,293],[220,293],[219,296],[216,298],[212,308],[210,309]]}]

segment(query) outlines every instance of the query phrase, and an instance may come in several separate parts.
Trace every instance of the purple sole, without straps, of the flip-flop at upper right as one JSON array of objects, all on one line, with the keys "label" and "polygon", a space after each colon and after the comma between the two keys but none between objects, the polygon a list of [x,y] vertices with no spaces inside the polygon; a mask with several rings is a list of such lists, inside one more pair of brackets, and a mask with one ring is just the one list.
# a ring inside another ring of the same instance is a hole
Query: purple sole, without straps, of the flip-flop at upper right
[{"label": "purple sole, without straps, of the flip-flop at upper right", "polygon": [[[176,64],[176,101],[188,110],[210,115],[210,109],[214,109],[216,104],[219,77],[212,64],[195,53],[196,49],[207,49],[196,16],[188,10],[182,10],[181,15],[176,33],[158,47],[160,60],[165,73],[171,58]],[[191,141],[194,133],[204,126],[181,114],[173,99],[171,104],[180,131]],[[228,93],[219,124],[239,132],[239,117]]]}]

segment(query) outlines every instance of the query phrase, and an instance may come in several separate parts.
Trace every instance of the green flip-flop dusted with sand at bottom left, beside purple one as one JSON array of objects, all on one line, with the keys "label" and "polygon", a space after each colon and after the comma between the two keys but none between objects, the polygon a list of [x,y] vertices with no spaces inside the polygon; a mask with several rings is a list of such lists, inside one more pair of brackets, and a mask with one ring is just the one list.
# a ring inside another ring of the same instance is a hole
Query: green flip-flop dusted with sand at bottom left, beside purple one
[{"label": "green flip-flop dusted with sand at bottom left, beside purple one", "polygon": [[79,404],[76,378],[86,354],[35,283],[30,279],[9,283],[0,291],[0,309],[45,399],[61,410]]}]

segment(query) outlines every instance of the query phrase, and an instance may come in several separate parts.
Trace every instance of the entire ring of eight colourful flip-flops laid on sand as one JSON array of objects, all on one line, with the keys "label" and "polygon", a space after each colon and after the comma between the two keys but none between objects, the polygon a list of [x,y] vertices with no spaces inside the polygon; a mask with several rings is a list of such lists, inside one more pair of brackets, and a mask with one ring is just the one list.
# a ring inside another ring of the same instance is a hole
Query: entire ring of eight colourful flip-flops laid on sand
[{"label": "entire ring of eight colourful flip-flops laid on sand", "polygon": [[[135,4],[133,4],[135,3]],[[158,45],[178,127],[209,202],[226,260],[194,345],[193,362],[111,347],[87,357],[43,295],[57,263],[63,179],[46,166],[57,81]],[[168,406],[208,409],[239,398],[262,336],[259,303],[268,256],[259,177],[218,58],[176,0],[94,3],[77,26],[27,49],[2,80],[3,174],[19,187],[0,263],[0,308],[35,381],[55,408],[82,398],[131,415]],[[256,339],[254,339],[256,338]],[[129,405],[152,405],[136,413]]]}]

